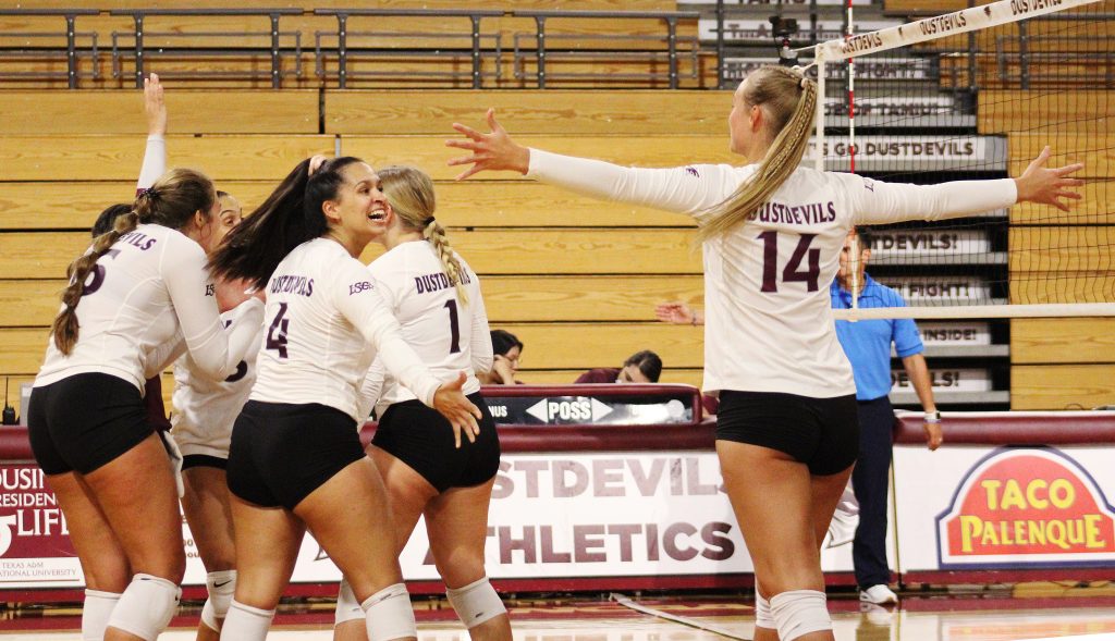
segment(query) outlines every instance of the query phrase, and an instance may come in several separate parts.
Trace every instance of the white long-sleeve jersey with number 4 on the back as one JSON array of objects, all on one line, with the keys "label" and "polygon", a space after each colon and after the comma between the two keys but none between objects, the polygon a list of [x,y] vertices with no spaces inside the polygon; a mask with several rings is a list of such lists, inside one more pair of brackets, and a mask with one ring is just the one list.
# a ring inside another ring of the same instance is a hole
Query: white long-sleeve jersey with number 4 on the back
[{"label": "white long-sleeve jersey with number 4 on the back", "polygon": [[263,341],[251,399],[322,404],[353,418],[377,353],[385,368],[433,406],[440,386],[399,331],[368,270],[339,243],[294,247],[268,282]]}]

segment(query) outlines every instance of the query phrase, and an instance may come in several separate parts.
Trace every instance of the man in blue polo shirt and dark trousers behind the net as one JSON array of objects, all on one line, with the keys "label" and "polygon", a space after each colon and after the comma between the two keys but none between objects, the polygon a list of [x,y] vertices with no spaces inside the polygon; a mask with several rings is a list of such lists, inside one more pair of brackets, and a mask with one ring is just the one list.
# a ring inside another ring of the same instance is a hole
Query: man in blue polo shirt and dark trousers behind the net
[{"label": "man in blue polo shirt and dark trousers behind the net", "polygon": [[[851,308],[853,295],[864,309],[905,307],[898,292],[867,275],[870,247],[867,230],[849,233],[840,272],[830,288],[833,309]],[[838,320],[836,338],[852,363],[860,402],[860,458],[852,472],[852,489],[860,503],[860,525],[852,543],[855,581],[861,601],[896,603],[898,595],[888,587],[891,571],[886,566],[886,494],[894,443],[894,410],[886,397],[891,391],[891,343],[925,411],[925,443],[930,449],[941,445],[941,414],[933,402],[932,379],[922,356],[924,347],[913,320]]]}]

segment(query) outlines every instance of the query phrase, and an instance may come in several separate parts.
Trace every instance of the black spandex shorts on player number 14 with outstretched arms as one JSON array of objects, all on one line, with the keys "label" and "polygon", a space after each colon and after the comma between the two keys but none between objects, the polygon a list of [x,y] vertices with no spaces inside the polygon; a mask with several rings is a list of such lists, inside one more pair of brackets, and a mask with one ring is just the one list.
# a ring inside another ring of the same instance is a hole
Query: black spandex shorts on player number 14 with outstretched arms
[{"label": "black spandex shorts on player number 14 with outstretched arms", "polygon": [[717,440],[784,451],[815,476],[847,469],[860,451],[855,395],[812,398],[767,391],[720,392]]}]

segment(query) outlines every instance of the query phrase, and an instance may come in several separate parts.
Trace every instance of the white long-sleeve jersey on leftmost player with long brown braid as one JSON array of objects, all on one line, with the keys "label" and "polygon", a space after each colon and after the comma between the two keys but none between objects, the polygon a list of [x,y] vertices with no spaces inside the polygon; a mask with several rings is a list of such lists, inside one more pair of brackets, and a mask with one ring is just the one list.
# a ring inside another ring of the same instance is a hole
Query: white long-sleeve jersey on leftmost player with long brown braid
[{"label": "white long-sleeve jersey on leftmost player with long brown braid", "polygon": [[176,230],[139,225],[97,260],[77,305],[77,343],[66,356],[51,338],[35,386],[101,372],[142,392],[148,355],[178,332],[201,372],[225,378],[236,370],[263,318],[255,299],[235,311],[226,333],[197,243]]}]

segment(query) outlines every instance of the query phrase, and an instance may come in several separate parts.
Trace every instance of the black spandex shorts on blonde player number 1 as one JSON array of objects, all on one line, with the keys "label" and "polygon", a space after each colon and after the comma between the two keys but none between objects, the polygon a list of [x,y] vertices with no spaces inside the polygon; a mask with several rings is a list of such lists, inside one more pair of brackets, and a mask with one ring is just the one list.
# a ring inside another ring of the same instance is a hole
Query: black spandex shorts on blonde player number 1
[{"label": "black spandex shorts on blonde player number 1", "polygon": [[438,492],[486,483],[500,469],[500,437],[479,392],[468,400],[484,414],[476,443],[462,434],[460,447],[454,447],[449,421],[421,401],[409,400],[387,408],[371,444],[409,465]]}]

